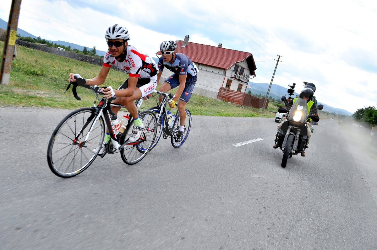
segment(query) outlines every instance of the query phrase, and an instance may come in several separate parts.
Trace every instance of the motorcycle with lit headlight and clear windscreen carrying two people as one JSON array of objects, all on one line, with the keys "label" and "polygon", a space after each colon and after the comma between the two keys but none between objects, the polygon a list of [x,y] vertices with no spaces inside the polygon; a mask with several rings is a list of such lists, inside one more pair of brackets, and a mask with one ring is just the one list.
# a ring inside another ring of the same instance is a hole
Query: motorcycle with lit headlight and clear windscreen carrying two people
[{"label": "motorcycle with lit headlight and clear windscreen carrying two people", "polygon": [[[287,107],[287,98],[282,96]],[[323,105],[318,105],[317,109],[322,110]],[[287,109],[286,109],[287,110]],[[288,110],[287,110],[288,111]],[[308,106],[305,99],[297,98],[290,110],[285,122],[276,133],[275,143],[283,151],[281,166],[285,168],[287,161],[292,155],[305,152],[308,143],[307,120],[313,116],[308,115]],[[283,121],[282,121],[283,122]]]}]

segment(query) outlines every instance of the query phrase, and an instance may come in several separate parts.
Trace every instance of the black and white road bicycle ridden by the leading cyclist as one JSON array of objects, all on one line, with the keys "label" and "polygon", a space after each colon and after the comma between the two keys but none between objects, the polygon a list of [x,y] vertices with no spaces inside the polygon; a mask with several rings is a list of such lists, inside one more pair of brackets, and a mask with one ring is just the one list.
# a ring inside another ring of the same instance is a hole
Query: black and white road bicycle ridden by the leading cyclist
[{"label": "black and white road bicycle ridden by the leading cyclist", "polygon": [[76,99],[80,100],[76,92],[76,87],[79,85],[92,90],[95,94],[95,101],[93,107],[72,111],[55,128],[47,150],[47,161],[51,171],[59,177],[68,178],[87,169],[96,159],[103,145],[106,133],[105,123],[111,140],[105,143],[106,151],[100,156],[103,158],[106,154],[120,152],[123,162],[129,165],[141,161],[148,153],[158,131],[154,113],[148,110],[139,113],[144,122],[143,134],[131,143],[128,142],[128,138],[133,126],[132,116],[123,133],[116,133],[112,124],[112,120],[116,120],[117,117],[111,110],[111,106],[125,108],[123,105],[111,103],[115,97],[100,98],[100,95],[104,95],[100,91],[101,87],[81,85],[76,82],[70,82],[66,91],[70,85],[73,85],[72,91]]}]

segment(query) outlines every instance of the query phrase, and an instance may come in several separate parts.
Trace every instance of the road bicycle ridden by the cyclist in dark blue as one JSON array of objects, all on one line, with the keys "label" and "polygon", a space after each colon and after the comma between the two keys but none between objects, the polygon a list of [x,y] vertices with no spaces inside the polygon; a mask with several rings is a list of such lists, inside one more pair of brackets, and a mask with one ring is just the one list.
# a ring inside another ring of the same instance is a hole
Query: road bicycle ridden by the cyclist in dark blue
[{"label": "road bicycle ridden by the cyclist in dark blue", "polygon": [[182,139],[179,140],[177,138],[177,133],[178,133],[179,125],[180,125],[179,111],[177,111],[177,113],[175,114],[176,116],[175,121],[170,122],[170,125],[169,125],[167,109],[166,109],[167,104],[172,101],[172,99],[174,98],[174,95],[172,95],[171,93],[164,93],[157,90],[153,92],[157,93],[158,95],[161,95],[162,101],[161,103],[159,103],[159,100],[158,100],[159,96],[157,96],[156,98],[157,106],[148,109],[156,115],[157,126],[158,126],[155,141],[153,142],[149,150],[152,150],[157,145],[161,136],[164,139],[167,139],[170,136],[170,140],[172,142],[173,147],[179,148],[186,141],[187,136],[190,133],[191,120],[192,120],[190,110],[185,109],[185,112],[186,112],[186,118],[185,118],[185,123],[184,123],[185,131],[184,131]]}]

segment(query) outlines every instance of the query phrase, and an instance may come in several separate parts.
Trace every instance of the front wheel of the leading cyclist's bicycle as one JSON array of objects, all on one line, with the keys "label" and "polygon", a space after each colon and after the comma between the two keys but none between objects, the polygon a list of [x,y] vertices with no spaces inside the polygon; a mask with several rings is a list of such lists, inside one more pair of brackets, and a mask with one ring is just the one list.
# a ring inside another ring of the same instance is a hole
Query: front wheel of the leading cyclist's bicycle
[{"label": "front wheel of the leading cyclist's bicycle", "polygon": [[[94,124],[88,140],[83,142],[94,117],[94,108],[79,108],[64,117],[55,128],[47,149],[47,162],[55,175],[73,177],[87,169],[95,160],[105,136],[102,117]],[[95,148],[97,150],[93,152]]]}]

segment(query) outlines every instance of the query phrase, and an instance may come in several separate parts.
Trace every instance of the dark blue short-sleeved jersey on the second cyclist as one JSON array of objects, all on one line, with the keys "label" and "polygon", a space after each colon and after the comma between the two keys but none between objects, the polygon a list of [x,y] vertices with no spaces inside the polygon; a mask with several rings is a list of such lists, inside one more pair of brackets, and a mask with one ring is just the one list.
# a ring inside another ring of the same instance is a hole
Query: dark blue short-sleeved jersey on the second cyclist
[{"label": "dark blue short-sleeved jersey on the second cyclist", "polygon": [[195,64],[187,55],[182,53],[175,53],[175,59],[172,63],[164,62],[161,56],[158,61],[158,70],[162,72],[164,67],[179,75],[187,75],[189,73],[191,76],[195,76],[198,73]]}]

